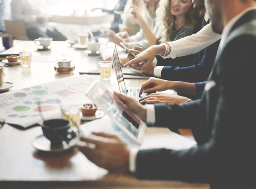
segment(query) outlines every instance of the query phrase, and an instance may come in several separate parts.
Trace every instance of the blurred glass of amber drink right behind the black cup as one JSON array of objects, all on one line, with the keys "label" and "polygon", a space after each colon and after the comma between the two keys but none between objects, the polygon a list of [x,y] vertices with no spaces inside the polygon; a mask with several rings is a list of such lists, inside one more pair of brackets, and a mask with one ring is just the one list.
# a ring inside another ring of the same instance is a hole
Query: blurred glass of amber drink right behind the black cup
[{"label": "blurred glass of amber drink right behind the black cup", "polygon": [[81,124],[81,106],[69,105],[61,107],[62,118],[72,122],[71,128],[74,132],[78,131]]}]

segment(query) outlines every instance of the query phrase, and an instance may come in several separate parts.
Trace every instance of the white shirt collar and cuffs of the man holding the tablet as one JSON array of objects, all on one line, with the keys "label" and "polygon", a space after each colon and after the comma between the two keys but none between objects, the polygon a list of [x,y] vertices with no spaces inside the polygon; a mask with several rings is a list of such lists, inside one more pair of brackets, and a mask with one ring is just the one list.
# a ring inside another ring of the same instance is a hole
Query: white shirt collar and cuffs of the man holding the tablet
[{"label": "white shirt collar and cuffs of the man holding the tablet", "polygon": [[[229,34],[231,28],[233,27],[233,25],[239,20],[239,18],[241,18],[245,13],[247,13],[248,11],[251,10],[255,10],[256,7],[252,7],[252,8],[247,8],[246,10],[244,10],[243,12],[241,12],[240,14],[236,15],[236,17],[233,17],[233,19],[231,19],[227,25],[224,27],[224,30],[222,32],[222,39],[221,39],[221,43],[220,43],[220,49],[223,47],[223,44],[227,38],[227,35]],[[155,123],[155,110],[154,109],[154,105],[150,104],[150,105],[145,105],[147,108],[147,116],[146,116],[146,122],[148,124],[154,124]],[[154,123],[152,123],[152,121],[154,121]],[[138,153],[139,149],[138,148],[132,148],[130,150],[130,155],[129,155],[129,169],[131,172],[136,172],[136,157],[137,157],[137,153]]]}]

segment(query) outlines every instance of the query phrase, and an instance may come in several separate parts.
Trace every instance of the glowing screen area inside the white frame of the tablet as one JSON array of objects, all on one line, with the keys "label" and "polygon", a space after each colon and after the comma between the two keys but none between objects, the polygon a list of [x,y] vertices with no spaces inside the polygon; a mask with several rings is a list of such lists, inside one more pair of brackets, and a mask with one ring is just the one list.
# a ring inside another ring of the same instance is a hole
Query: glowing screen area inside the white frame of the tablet
[{"label": "glowing screen area inside the white frame of the tablet", "polygon": [[92,97],[129,132],[135,137],[138,136],[141,120],[128,110],[125,104],[120,102],[116,96],[110,93],[106,88],[98,87]]}]

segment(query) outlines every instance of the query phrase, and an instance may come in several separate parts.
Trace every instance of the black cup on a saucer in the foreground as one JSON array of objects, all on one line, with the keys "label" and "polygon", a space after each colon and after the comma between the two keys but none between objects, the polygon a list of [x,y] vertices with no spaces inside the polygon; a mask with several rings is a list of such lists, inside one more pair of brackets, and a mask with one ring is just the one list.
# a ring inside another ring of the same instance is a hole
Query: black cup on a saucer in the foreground
[{"label": "black cup on a saucer in the foreground", "polygon": [[61,147],[62,142],[67,144],[76,137],[76,133],[71,128],[72,122],[65,119],[49,119],[44,121],[42,130],[44,136],[51,141],[52,147]]}]

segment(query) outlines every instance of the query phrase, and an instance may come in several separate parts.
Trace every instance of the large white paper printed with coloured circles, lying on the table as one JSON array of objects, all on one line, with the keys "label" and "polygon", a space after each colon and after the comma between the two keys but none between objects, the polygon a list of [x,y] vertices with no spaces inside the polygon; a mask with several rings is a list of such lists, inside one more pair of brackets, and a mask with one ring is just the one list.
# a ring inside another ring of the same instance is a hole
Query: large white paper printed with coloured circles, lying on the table
[{"label": "large white paper printed with coloured circles, lying on the table", "polygon": [[44,119],[58,118],[61,116],[61,106],[90,102],[85,92],[95,79],[98,78],[70,76],[0,94],[0,118],[21,127],[41,123],[42,116]]}]

